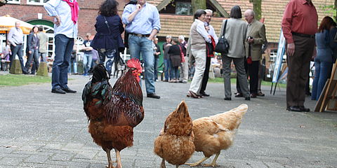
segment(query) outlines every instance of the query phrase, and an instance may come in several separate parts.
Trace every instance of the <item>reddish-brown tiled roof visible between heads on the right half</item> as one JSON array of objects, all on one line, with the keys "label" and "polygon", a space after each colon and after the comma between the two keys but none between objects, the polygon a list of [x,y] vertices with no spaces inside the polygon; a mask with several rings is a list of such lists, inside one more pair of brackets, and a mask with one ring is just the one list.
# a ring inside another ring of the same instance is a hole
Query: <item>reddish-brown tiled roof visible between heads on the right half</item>
[{"label": "reddish-brown tiled roof visible between heads on the right half", "polygon": [[[147,0],[147,2],[158,6],[163,0]],[[262,18],[265,18],[265,28],[267,40],[272,43],[278,43],[279,32],[281,30],[282,16],[284,13],[284,8],[288,1],[279,0],[263,0],[262,1]],[[242,12],[249,8],[253,8],[253,3],[249,3],[249,0],[218,0],[218,3],[230,13],[232,6],[238,5],[241,7]],[[324,18],[324,16],[332,16],[334,10],[326,12],[324,6],[331,6],[334,0],[314,0],[314,5],[316,6],[317,13],[319,16],[319,22]],[[171,15],[171,14],[161,14],[161,31],[159,36],[189,36],[190,26],[192,25],[192,16],[186,15]],[[221,22],[225,18],[212,18],[211,25],[213,25],[216,30],[216,34],[220,34]]]}]

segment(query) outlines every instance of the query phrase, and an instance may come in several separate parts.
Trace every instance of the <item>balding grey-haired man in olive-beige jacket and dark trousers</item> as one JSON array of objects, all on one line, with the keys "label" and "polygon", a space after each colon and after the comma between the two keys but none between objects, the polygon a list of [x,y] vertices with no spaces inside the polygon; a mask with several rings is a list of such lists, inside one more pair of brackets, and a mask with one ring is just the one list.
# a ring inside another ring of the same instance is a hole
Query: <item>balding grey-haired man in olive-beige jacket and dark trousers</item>
[{"label": "balding grey-haired man in olive-beige jacket and dark trousers", "polygon": [[255,13],[251,9],[244,12],[244,18],[248,22],[245,43],[246,56],[247,59],[251,59],[251,62],[247,61],[249,71],[249,91],[251,92],[251,98],[256,98],[258,95],[258,69],[262,58],[261,50],[263,43],[267,41],[265,38],[265,25],[263,25],[262,22],[255,20]]}]

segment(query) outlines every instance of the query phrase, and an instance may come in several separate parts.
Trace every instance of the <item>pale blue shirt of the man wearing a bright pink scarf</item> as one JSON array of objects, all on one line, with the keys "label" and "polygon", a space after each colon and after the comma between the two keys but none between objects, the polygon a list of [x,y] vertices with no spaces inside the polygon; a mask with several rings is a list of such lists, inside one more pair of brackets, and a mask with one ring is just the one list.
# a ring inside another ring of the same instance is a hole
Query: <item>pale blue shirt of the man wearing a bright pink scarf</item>
[{"label": "pale blue shirt of the man wearing a bright pink scarf", "polygon": [[[77,23],[72,22],[72,9],[67,2],[61,0],[50,0],[44,4],[48,15],[60,17],[60,25],[54,25],[54,34],[63,34],[68,38],[77,38]],[[54,19],[56,21],[56,18]]]}]

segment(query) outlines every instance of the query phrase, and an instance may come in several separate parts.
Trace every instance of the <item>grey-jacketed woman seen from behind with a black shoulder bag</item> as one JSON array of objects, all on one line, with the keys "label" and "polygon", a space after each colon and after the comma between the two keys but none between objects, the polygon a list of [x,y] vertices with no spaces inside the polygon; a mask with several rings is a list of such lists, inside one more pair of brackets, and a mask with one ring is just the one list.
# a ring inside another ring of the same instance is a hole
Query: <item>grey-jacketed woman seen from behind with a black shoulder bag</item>
[{"label": "grey-jacketed woman seen from behind with a black shoulder bag", "polygon": [[[223,36],[226,20],[223,20],[220,36]],[[230,10],[230,19],[227,20],[225,38],[230,43],[228,53],[221,53],[223,59],[223,80],[225,85],[225,100],[232,100],[232,92],[230,87],[230,64],[234,62],[237,71],[239,85],[242,94],[246,100],[250,100],[248,91],[248,82],[246,71],[244,70],[244,42],[246,41],[247,23],[242,20],[242,12],[239,6],[233,6]]]}]

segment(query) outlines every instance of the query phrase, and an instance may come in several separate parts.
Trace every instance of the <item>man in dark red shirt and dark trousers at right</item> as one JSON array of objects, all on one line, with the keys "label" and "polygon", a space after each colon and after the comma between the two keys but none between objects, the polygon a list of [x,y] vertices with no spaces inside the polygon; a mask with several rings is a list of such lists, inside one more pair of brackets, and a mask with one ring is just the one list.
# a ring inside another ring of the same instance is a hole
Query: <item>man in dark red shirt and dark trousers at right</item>
[{"label": "man in dark red shirt and dark trousers at right", "polygon": [[315,49],[317,10],[311,0],[291,0],[284,10],[282,30],[286,38],[288,79],[286,83],[286,109],[310,111],[305,108],[305,83]]}]

